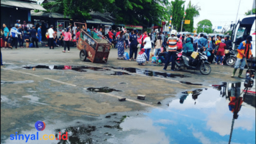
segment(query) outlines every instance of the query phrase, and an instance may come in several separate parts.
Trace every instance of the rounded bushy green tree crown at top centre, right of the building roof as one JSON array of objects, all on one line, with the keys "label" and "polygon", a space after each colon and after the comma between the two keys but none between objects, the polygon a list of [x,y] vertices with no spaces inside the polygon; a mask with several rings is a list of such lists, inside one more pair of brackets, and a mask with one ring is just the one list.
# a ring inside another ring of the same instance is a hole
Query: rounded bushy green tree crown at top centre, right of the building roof
[{"label": "rounded bushy green tree crown at top centre, right of the building roof", "polygon": [[168,4],[168,0],[115,0],[106,4],[106,11],[111,12],[119,24],[161,26],[161,20],[170,19],[164,7]]}]

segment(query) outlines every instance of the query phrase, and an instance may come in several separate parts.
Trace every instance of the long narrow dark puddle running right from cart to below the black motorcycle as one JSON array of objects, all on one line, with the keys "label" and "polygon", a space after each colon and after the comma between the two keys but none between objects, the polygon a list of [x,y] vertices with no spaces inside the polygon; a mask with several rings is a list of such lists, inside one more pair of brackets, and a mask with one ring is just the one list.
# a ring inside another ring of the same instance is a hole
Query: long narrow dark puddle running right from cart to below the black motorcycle
[{"label": "long narrow dark puddle running right from cart to below the black motorcycle", "polygon": [[155,76],[155,77],[172,77],[172,78],[176,78],[176,77],[189,77],[189,76],[185,76],[182,74],[170,74],[170,73],[166,73],[166,72],[155,72],[155,71],[151,71],[151,70],[143,70],[140,68],[125,68],[125,67],[106,67],[106,68],[113,68],[113,69],[118,69],[118,70],[126,70],[128,72],[131,73],[137,73],[137,74],[143,74],[146,76]]}]

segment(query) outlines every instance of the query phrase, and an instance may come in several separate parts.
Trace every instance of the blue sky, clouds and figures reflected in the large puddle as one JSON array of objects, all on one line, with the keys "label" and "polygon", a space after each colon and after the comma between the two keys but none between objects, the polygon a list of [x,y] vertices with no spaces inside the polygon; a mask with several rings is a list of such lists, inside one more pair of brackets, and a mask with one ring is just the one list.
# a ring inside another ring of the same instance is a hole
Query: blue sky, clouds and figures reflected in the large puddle
[{"label": "blue sky, clouds and figures reflected in the large puddle", "polygon": [[180,99],[172,100],[165,110],[154,109],[144,113],[147,117],[127,118],[120,125],[121,134],[108,141],[255,143],[255,87],[241,95],[243,85],[223,83],[207,90],[182,92]]}]

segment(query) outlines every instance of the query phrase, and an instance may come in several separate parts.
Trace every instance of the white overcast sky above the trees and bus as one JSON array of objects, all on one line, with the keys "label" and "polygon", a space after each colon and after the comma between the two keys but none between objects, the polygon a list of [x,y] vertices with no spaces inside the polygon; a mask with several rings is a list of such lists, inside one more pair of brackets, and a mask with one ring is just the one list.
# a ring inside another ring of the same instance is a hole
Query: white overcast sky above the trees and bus
[{"label": "white overcast sky above the trees and bus", "polygon": [[[252,9],[253,1],[255,0],[241,0],[237,20]],[[186,0],[185,9],[188,3],[189,0]],[[229,29],[231,22],[236,21],[239,0],[191,0],[191,4],[198,4],[201,8],[200,16],[194,19],[194,28],[200,20],[208,19],[212,22],[212,29],[216,28],[217,30],[217,26]]]}]

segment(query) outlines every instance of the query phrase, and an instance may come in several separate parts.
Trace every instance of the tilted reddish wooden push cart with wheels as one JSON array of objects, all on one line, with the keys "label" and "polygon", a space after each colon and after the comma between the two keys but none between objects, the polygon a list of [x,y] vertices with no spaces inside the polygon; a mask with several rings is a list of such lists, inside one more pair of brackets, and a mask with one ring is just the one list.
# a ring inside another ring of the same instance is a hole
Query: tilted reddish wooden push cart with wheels
[{"label": "tilted reddish wooden push cart with wheels", "polygon": [[88,58],[93,63],[106,63],[112,47],[111,42],[94,29],[87,29],[86,23],[74,22],[75,24],[81,28],[80,38],[77,41],[80,60],[86,61],[86,58]]}]

